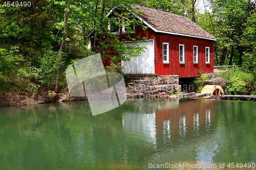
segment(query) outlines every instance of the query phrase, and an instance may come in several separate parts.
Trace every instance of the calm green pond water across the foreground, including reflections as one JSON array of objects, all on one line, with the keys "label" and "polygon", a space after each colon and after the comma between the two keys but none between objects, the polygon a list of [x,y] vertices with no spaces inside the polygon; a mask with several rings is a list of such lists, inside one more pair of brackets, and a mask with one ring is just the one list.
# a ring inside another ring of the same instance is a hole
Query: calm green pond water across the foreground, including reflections
[{"label": "calm green pond water across the foreground, including reflections", "polygon": [[0,169],[190,169],[179,163],[255,167],[256,103],[133,99],[96,116],[85,101],[0,108]]}]

